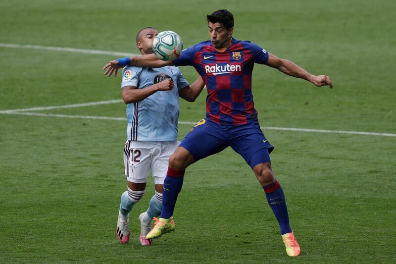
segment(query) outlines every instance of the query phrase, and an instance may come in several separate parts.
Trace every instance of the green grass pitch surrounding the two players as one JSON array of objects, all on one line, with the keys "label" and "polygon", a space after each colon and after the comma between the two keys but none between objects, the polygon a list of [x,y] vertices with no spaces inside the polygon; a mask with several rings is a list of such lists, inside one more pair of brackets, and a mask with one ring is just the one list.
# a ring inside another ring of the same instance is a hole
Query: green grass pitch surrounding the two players
[{"label": "green grass pitch surrounding the two players", "polygon": [[[219,8],[233,12],[235,38],[332,78],[333,90],[317,88],[256,65],[261,126],[396,133],[392,0],[1,1],[0,43],[138,53],[137,31],[153,26],[189,47],[208,39],[205,15]],[[119,56],[2,44],[0,111],[121,99],[120,78],[102,75]],[[181,102],[179,121],[204,117],[205,97]],[[131,213],[133,239],[121,245],[126,121],[116,118],[125,105],[27,112],[42,116],[0,112],[0,263],[396,261],[395,136],[264,130],[301,246],[290,258],[261,186],[231,149],[189,167],[176,232],[142,247],[137,217],[154,192],[149,179]],[[179,140],[190,128],[179,124]]]}]

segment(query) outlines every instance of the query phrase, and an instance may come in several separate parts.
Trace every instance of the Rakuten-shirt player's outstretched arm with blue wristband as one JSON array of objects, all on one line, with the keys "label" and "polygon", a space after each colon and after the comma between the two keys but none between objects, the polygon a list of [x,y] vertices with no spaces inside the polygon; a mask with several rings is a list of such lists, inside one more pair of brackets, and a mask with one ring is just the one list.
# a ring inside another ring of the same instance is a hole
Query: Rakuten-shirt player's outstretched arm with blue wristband
[{"label": "Rakuten-shirt player's outstretched arm with blue wristband", "polygon": [[172,61],[160,60],[153,53],[143,56],[119,58],[116,60],[110,60],[109,63],[104,65],[103,70],[106,70],[104,75],[110,77],[114,72],[114,77],[116,77],[118,70],[128,65],[145,68],[159,68],[166,65],[173,65],[173,63]]}]

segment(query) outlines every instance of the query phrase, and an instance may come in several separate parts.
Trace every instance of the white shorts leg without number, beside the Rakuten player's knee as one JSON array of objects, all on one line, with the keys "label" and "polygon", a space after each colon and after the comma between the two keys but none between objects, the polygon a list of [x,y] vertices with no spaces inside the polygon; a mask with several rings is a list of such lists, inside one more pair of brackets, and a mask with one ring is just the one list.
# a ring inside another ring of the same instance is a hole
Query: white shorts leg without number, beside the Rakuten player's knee
[{"label": "white shorts leg without number, beside the Rakuten player's knee", "polygon": [[179,146],[180,141],[160,141],[158,147],[152,155],[151,172],[154,184],[163,184],[168,171],[170,156]]}]

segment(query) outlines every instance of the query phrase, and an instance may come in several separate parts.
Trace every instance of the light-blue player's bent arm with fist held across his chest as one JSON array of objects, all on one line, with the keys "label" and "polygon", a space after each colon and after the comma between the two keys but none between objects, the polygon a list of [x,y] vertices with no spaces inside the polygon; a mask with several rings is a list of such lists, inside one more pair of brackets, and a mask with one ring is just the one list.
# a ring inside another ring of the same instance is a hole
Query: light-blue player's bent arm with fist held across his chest
[{"label": "light-blue player's bent arm with fist held across his chest", "polygon": [[167,79],[148,87],[137,89],[135,86],[122,87],[122,99],[125,104],[137,103],[158,91],[170,91],[175,86],[172,79]]}]

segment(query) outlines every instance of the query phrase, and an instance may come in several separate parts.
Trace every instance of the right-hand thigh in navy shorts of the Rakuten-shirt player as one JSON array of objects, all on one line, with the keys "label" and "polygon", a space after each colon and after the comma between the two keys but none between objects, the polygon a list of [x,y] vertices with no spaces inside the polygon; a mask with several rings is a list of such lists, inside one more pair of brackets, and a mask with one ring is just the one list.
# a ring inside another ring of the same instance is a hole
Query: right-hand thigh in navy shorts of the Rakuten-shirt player
[{"label": "right-hand thigh in navy shorts of the Rakuten-shirt player", "polygon": [[251,168],[260,163],[271,163],[269,154],[274,147],[255,126],[247,125],[247,129],[234,134],[230,140],[230,146],[246,160]]}]

